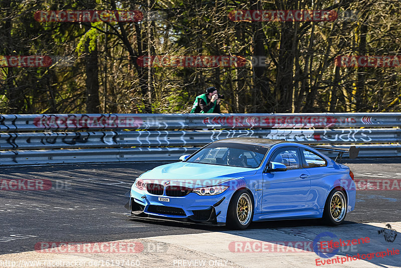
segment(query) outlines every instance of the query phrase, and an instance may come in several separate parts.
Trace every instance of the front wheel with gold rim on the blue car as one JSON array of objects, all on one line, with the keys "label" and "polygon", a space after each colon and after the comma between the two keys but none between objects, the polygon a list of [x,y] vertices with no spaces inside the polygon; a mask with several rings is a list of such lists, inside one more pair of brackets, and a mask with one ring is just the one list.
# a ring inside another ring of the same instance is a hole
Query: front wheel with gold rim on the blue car
[{"label": "front wheel with gold rim on the blue car", "polygon": [[231,229],[246,229],[254,216],[254,201],[250,191],[238,190],[230,200],[226,225]]}]

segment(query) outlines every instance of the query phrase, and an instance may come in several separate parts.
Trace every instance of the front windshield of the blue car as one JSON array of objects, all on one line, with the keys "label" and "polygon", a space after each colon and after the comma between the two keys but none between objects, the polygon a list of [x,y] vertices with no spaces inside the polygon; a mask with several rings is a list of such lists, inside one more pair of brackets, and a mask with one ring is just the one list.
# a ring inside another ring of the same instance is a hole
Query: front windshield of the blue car
[{"label": "front windshield of the blue car", "polygon": [[264,146],[219,142],[206,146],[186,162],[257,168],[268,151]]}]

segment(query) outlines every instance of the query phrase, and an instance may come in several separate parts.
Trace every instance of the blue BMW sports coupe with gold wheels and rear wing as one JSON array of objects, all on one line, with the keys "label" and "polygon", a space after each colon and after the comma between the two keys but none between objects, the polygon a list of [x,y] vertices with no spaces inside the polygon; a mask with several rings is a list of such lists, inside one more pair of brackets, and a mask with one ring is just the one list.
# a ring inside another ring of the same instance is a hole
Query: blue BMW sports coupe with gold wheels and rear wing
[{"label": "blue BMW sports coupe with gold wheels and rear wing", "polygon": [[340,224],[355,206],[353,174],[316,149],[338,152],[337,158],[358,154],[355,147],[310,147],[259,138],[215,141],[181,156],[181,162],[135,179],[126,215],[234,229],[281,219],[323,218],[326,224]]}]

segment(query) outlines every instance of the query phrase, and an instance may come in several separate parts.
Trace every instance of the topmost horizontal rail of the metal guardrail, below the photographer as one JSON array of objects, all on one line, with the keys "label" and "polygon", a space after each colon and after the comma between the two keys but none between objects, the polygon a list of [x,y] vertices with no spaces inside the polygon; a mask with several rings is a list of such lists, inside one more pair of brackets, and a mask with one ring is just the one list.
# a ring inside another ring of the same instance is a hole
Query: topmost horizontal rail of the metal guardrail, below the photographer
[{"label": "topmost horizontal rail of the metal guardrail, below the photographer", "polygon": [[401,113],[5,114],[0,131],[401,126]]}]

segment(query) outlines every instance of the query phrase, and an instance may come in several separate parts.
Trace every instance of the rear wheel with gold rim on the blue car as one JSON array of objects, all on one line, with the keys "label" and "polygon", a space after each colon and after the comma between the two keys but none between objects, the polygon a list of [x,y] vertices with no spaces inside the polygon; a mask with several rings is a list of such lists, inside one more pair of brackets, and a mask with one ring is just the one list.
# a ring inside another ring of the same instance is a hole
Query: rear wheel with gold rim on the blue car
[{"label": "rear wheel with gold rim on the blue car", "polygon": [[323,223],[341,224],[347,215],[347,196],[340,189],[333,189],[327,197],[323,211]]}]

